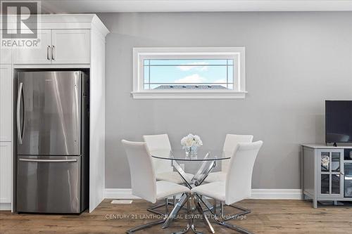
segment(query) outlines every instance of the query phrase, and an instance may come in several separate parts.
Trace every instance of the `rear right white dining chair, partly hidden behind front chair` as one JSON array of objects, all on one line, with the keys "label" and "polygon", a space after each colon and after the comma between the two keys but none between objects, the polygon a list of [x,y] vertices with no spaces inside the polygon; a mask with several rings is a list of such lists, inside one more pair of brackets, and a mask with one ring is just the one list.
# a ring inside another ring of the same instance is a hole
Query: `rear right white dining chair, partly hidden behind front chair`
[{"label": "rear right white dining chair, partly hidden behind front chair", "polygon": [[[225,155],[233,155],[234,149],[238,143],[249,143],[253,141],[252,135],[235,135],[227,134],[222,151]],[[215,181],[225,181],[226,174],[229,168],[230,160],[221,160],[221,170],[211,172],[204,180],[206,183]]]}]

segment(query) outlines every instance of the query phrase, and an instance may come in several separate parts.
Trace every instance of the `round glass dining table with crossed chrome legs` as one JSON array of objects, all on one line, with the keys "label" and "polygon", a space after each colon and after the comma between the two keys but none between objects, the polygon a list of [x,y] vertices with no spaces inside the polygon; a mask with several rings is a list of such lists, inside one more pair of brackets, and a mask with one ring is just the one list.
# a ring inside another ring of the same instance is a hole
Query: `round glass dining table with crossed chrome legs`
[{"label": "round glass dining table with crossed chrome legs", "polygon": [[[199,149],[196,155],[187,155],[185,150],[153,150],[153,152],[151,152],[151,157],[158,160],[170,160],[172,162],[172,166],[182,177],[184,185],[189,189],[192,189],[203,183],[208,174],[210,174],[210,172],[216,167],[219,161],[230,160],[231,153],[225,151],[206,150],[203,148]],[[192,178],[189,178],[184,169],[180,166],[179,162],[182,162],[182,164],[191,162],[201,163],[199,163],[199,168],[198,171],[196,171],[196,174],[194,174]],[[165,223],[163,223],[163,228],[168,228],[168,226],[170,226],[172,219],[177,217],[178,212],[180,212],[180,209],[184,206],[184,204],[189,204],[189,199],[192,200],[192,203],[194,204],[194,207],[188,209],[189,214],[193,213],[193,211],[197,209],[198,212],[202,214],[201,218],[204,223],[206,223],[206,226],[208,226],[210,232],[215,233],[213,226],[205,214],[207,210],[211,211],[213,209],[213,205],[210,204],[205,197],[200,197],[199,195],[196,195],[196,197],[189,197],[189,195],[185,193],[181,195],[177,204],[175,204],[175,207],[172,209],[172,212],[170,212],[168,219],[166,219]],[[193,233],[199,233],[196,231],[193,219],[189,219],[187,228],[180,233],[187,233],[189,230],[193,231]]]}]

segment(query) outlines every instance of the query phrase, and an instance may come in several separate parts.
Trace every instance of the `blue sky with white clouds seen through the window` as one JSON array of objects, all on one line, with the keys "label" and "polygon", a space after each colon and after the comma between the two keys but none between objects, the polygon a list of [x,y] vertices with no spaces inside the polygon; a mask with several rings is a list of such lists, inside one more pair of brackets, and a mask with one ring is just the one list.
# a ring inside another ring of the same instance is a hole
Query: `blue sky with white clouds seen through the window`
[{"label": "blue sky with white clouds seen through the window", "polygon": [[233,89],[233,64],[233,59],[145,59],[144,89],[179,85]]}]

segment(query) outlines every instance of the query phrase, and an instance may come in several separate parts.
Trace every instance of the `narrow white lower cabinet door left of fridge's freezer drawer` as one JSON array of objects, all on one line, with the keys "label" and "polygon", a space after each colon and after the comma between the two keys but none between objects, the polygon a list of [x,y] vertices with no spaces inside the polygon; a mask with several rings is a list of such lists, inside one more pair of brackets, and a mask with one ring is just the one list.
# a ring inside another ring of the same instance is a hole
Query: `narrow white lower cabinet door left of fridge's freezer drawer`
[{"label": "narrow white lower cabinet door left of fridge's freezer drawer", "polygon": [[0,204],[11,203],[12,197],[11,142],[0,142]]}]

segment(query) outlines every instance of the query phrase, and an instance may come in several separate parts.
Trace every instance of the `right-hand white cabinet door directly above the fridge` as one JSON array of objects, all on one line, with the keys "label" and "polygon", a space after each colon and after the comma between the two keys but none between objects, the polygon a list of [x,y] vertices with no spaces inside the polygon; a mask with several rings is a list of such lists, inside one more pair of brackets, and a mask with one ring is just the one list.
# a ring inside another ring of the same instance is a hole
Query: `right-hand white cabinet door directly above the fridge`
[{"label": "right-hand white cabinet door directly above the fridge", "polygon": [[90,63],[90,30],[52,30],[52,63]]}]

